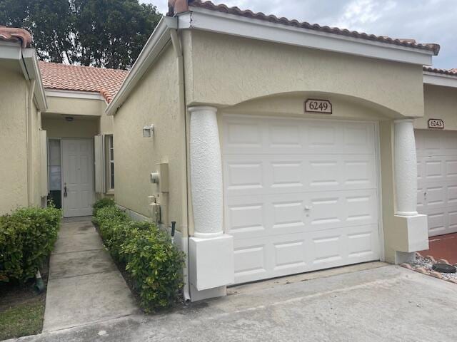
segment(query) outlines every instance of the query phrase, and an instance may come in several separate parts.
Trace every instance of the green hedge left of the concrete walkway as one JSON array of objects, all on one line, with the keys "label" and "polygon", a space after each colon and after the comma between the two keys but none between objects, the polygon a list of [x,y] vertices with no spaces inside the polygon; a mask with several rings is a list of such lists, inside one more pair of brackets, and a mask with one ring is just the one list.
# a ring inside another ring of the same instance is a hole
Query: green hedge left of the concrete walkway
[{"label": "green hedge left of the concrete walkway", "polygon": [[49,257],[59,233],[61,210],[22,208],[0,217],[0,281],[26,281]]}]

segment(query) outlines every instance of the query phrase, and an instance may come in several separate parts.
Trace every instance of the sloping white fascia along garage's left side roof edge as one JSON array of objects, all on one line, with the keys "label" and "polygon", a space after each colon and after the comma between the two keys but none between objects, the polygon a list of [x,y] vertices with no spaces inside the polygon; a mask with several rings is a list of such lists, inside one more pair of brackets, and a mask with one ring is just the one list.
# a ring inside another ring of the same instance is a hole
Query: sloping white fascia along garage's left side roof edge
[{"label": "sloping white fascia along garage's left side roof edge", "polygon": [[131,90],[136,86],[140,81],[141,77],[146,73],[148,68],[154,64],[156,58],[160,55],[161,51],[171,40],[169,30],[170,28],[177,27],[177,19],[167,16],[163,16],[162,19],[157,24],[157,27],[154,29],[154,32],[149,37],[146,45],[139,54],[138,58],[132,66],[129,75],[119,88],[119,91],[114,96],[111,103],[109,103],[105,112],[107,115],[114,115],[116,110],[121,107],[124,101],[129,97]]}]

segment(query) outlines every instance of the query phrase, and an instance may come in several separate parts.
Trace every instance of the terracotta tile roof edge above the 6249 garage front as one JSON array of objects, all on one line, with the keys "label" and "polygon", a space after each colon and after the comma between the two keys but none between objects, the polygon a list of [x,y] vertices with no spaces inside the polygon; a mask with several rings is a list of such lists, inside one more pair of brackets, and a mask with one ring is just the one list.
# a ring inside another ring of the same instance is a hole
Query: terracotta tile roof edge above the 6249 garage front
[{"label": "terracotta tile roof edge above the 6249 garage front", "polygon": [[435,55],[438,55],[440,46],[435,43],[417,43],[414,39],[395,39],[386,36],[375,36],[373,34],[361,33],[357,31],[349,31],[346,28],[341,29],[337,27],[320,26],[318,24],[309,24],[307,22],[300,22],[297,20],[290,20],[286,18],[278,18],[274,15],[266,15],[261,12],[254,13],[251,10],[241,10],[238,7],[229,7],[224,4],[213,4],[211,1],[202,0],[169,0],[169,13],[168,16],[174,16],[181,12],[189,11],[190,7],[199,7],[201,9],[209,9],[211,11],[218,11],[226,14],[234,14],[236,16],[244,16],[250,19],[258,19],[263,21],[269,21],[275,24],[283,24],[287,26],[294,26],[299,28],[306,28],[308,30],[326,32],[338,34],[340,36],[348,36],[353,38],[366,39],[368,41],[380,41],[382,43],[389,43],[398,46],[407,46],[411,48],[419,48],[423,50],[432,51]]}]

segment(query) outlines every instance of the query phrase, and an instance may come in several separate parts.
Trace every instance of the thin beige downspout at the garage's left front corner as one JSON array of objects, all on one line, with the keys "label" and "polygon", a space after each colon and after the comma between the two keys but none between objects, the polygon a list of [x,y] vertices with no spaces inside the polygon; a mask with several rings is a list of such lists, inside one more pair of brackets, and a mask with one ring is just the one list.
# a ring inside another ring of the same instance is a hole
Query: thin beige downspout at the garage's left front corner
[{"label": "thin beige downspout at the garage's left front corner", "polygon": [[[171,18],[170,18],[171,19]],[[176,54],[176,58],[178,60],[178,82],[179,82],[179,108],[181,109],[181,115],[184,115],[184,143],[186,149],[186,195],[184,196],[186,204],[186,241],[187,241],[187,274],[189,275],[189,170],[188,170],[188,162],[189,156],[187,155],[187,113],[186,113],[186,82],[184,78],[184,56],[183,56],[183,49],[181,46],[181,40],[178,36],[178,18],[172,18],[174,21],[167,22],[170,28],[170,36],[171,36],[171,43],[173,44],[174,52]],[[190,300],[191,295],[189,292],[189,278],[184,285],[184,299]]]}]

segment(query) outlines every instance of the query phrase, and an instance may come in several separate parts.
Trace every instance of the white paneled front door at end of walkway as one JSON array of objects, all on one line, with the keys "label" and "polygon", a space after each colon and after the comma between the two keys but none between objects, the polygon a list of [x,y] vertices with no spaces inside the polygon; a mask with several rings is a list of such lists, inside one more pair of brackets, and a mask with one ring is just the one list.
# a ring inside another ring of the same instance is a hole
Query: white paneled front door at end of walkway
[{"label": "white paneled front door at end of walkway", "polygon": [[62,139],[64,217],[89,216],[94,203],[94,142]]}]

